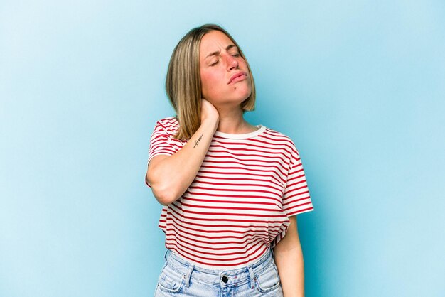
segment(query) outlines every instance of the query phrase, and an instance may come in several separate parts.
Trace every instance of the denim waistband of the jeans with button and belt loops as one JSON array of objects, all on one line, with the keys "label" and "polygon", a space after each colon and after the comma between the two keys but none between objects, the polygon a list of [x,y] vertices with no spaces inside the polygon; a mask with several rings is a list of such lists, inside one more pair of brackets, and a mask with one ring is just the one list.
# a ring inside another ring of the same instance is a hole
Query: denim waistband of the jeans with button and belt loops
[{"label": "denim waistband of the jeans with button and belt loops", "polygon": [[267,251],[262,254],[257,261],[245,267],[238,269],[205,269],[201,266],[196,266],[190,261],[183,259],[181,256],[173,253],[171,249],[167,249],[165,254],[166,264],[174,271],[184,275],[184,281],[188,286],[190,279],[196,279],[203,283],[213,286],[233,286],[244,284],[250,281],[251,286],[254,286],[254,278],[261,274],[269,265],[275,265],[273,259],[273,249],[269,247]]}]

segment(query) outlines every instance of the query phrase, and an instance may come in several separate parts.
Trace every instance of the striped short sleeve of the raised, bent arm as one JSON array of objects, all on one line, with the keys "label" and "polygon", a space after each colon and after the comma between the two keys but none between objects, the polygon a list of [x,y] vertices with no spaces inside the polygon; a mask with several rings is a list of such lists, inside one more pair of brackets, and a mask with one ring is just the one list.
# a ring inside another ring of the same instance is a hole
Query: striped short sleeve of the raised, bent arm
[{"label": "striped short sleeve of the raised, bent arm", "polygon": [[[177,149],[171,140],[170,134],[168,134],[166,126],[163,126],[161,121],[157,121],[156,125],[154,126],[153,134],[151,134],[150,137],[149,160],[147,161],[147,166],[154,156],[171,156],[173,153],[176,153],[176,151]],[[146,176],[145,183],[149,186],[149,188],[151,188],[150,183],[147,182]]]}]

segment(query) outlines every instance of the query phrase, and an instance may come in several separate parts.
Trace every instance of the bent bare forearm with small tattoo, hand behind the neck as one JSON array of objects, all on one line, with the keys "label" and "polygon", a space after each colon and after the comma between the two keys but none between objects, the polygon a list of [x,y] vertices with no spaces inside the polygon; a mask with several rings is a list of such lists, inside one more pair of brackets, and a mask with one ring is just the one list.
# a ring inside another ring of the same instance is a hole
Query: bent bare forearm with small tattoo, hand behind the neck
[{"label": "bent bare forearm with small tattoo, hand behind the neck", "polygon": [[154,197],[162,205],[178,200],[198,174],[219,124],[218,111],[208,104],[210,102],[203,102],[201,125],[186,145],[171,156],[159,155],[151,158],[146,179]]}]

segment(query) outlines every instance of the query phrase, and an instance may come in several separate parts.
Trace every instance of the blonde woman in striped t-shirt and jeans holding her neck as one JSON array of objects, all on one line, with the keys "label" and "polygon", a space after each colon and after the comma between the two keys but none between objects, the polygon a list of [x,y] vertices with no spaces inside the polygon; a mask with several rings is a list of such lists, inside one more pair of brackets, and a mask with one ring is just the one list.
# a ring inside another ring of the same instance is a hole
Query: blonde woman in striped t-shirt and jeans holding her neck
[{"label": "blonde woman in striped t-shirt and jeans holding her neck", "polygon": [[255,87],[240,47],[193,28],[166,91],[177,115],[156,122],[146,173],[166,233],[155,296],[304,296],[296,214],[313,205],[291,139],[243,117]]}]

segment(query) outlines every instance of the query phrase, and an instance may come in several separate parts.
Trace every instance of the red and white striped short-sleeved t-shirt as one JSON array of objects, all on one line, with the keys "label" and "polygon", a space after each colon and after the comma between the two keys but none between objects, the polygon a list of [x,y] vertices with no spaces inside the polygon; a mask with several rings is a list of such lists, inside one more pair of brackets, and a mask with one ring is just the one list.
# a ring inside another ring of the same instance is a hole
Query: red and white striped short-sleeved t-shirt
[{"label": "red and white striped short-sleeved t-shirt", "polygon": [[[148,162],[187,143],[173,139],[178,127],[176,117],[156,122]],[[284,237],[288,217],[313,210],[294,142],[257,127],[247,134],[215,131],[191,185],[163,205],[159,227],[166,248],[196,266],[225,270],[253,264]]]}]

